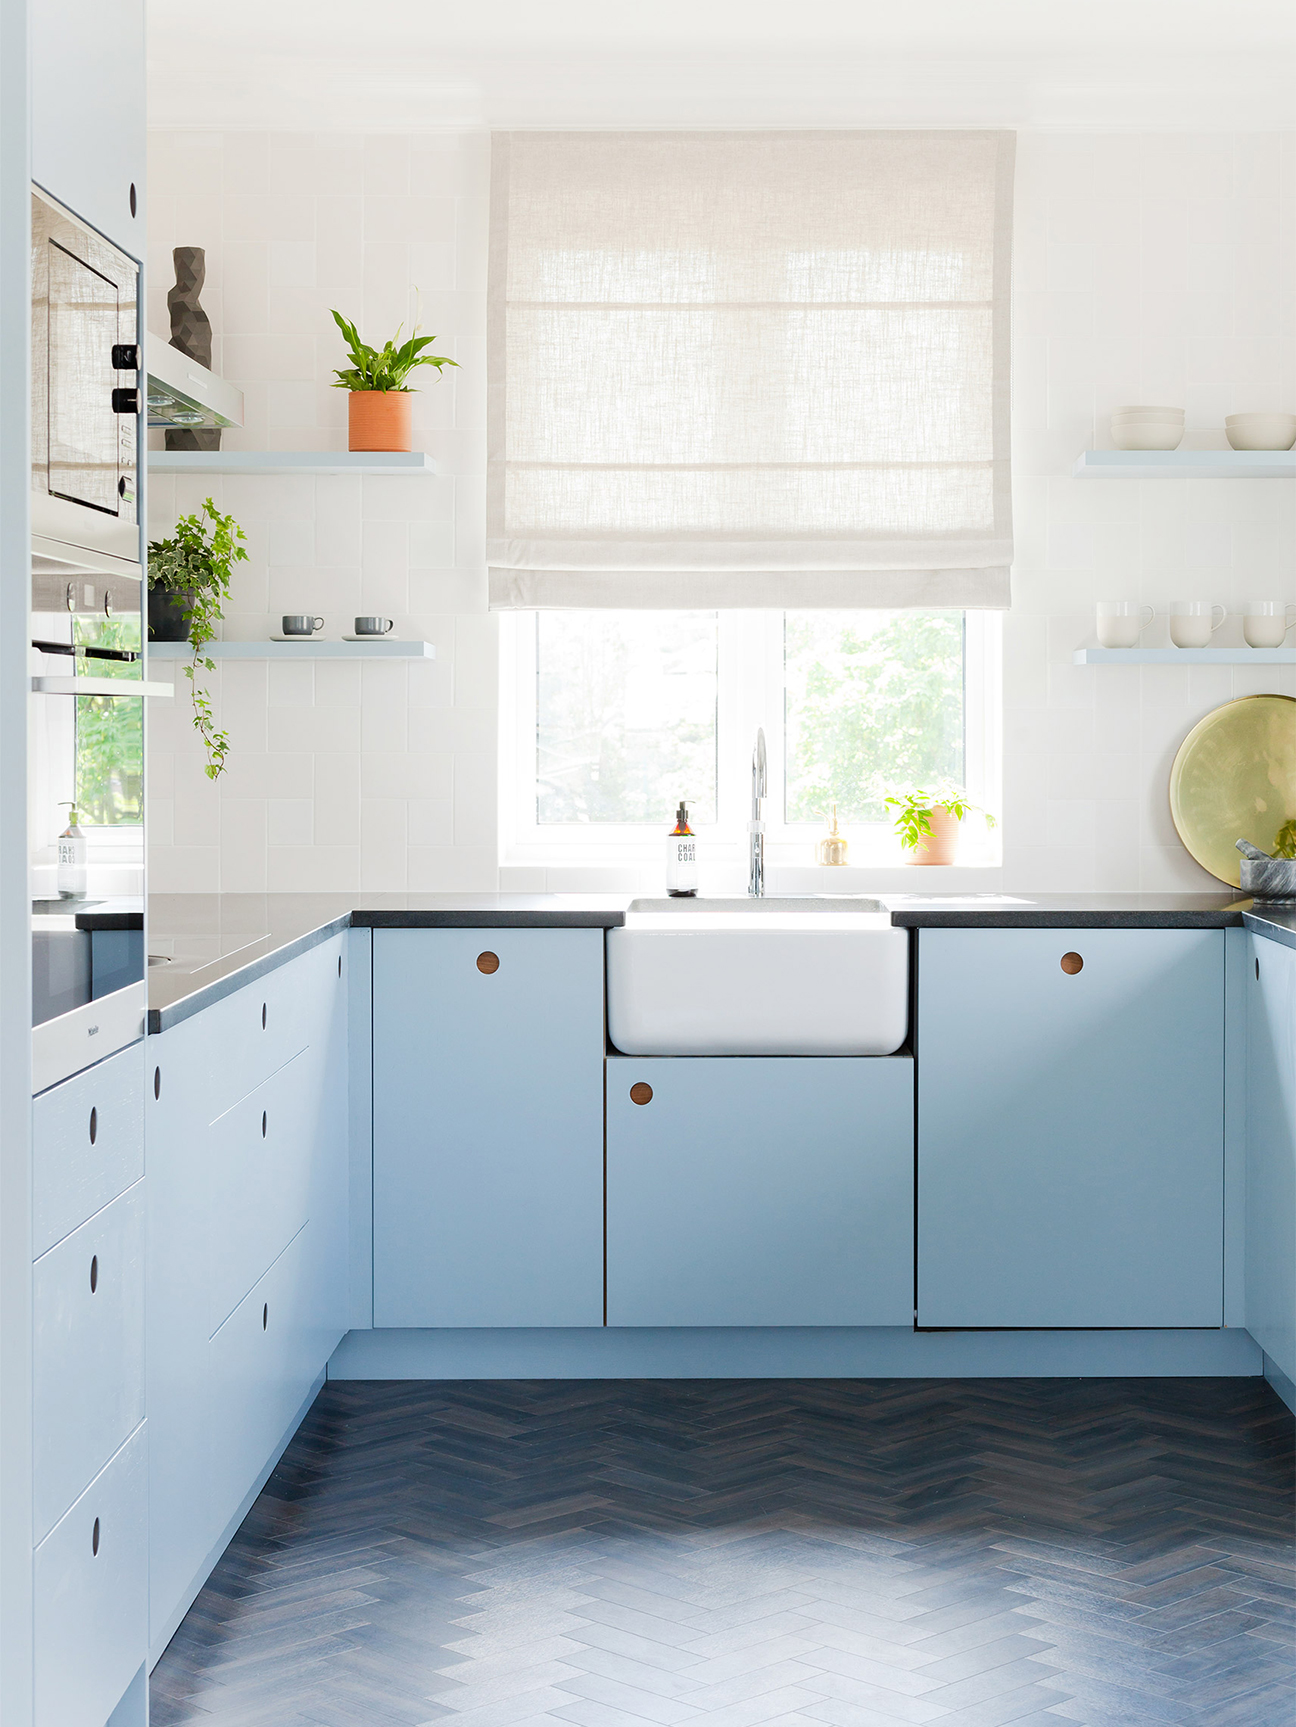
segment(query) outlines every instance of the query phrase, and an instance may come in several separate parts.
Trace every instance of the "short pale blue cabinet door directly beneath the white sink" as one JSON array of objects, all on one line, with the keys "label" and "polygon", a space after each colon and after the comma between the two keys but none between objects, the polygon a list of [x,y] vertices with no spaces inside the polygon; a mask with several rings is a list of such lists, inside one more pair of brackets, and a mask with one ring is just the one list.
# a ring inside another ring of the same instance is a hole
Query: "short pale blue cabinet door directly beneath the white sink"
[{"label": "short pale blue cabinet door directly beneath the white sink", "polygon": [[911,1060],[615,1057],[607,1112],[608,1325],[912,1325]]}]

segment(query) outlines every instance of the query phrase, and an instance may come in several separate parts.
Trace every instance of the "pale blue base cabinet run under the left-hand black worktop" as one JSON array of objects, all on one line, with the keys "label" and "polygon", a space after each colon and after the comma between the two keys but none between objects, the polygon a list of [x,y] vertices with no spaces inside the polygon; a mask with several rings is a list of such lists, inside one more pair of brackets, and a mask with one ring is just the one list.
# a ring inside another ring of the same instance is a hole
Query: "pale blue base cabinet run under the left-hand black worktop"
[{"label": "pale blue base cabinet run under the left-hand black worktop", "polygon": [[346,1330],[347,941],[149,1038],[154,1654]]}]

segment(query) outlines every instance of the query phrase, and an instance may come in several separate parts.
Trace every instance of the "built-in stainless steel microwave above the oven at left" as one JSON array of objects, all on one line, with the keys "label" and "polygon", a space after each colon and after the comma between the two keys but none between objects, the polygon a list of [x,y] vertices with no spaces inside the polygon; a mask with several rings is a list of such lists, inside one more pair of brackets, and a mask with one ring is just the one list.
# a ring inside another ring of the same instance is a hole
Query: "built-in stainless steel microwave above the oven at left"
[{"label": "built-in stainless steel microwave above the oven at left", "polygon": [[138,579],[142,361],[140,266],[33,190],[33,573]]}]

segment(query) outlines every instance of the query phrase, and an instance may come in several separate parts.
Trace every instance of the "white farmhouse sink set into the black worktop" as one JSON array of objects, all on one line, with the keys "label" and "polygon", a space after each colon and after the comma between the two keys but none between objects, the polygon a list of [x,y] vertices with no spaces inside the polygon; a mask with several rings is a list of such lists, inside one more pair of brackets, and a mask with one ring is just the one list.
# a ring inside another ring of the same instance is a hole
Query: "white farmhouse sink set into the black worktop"
[{"label": "white farmhouse sink set into the black worktop", "polygon": [[909,936],[878,900],[632,900],[608,929],[624,1055],[890,1055]]}]

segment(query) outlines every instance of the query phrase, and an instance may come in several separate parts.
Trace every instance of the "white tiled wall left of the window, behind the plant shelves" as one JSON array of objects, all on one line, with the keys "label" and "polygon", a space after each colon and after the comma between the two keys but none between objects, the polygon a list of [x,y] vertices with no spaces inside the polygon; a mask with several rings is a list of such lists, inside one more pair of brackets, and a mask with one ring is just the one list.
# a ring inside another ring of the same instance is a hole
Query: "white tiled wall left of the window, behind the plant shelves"
[{"label": "white tiled wall left of the window, behind the plant shelves", "polygon": [[213,677],[232,750],[216,786],[185,701],[154,703],[150,884],[494,888],[489,142],[176,133],[152,145],[149,328],[169,333],[171,247],[204,245],[213,359],[247,399],[225,447],[346,449],[346,392],[328,387],[344,364],[332,306],[382,340],[410,326],[418,300],[435,352],[461,370],[415,395],[415,444],[434,454],[435,478],[154,478],[154,535],[207,494],[247,532],[226,637],[264,639],[283,611],[321,615],[334,637],[356,613],[384,613],[437,658],[223,663]]}]

